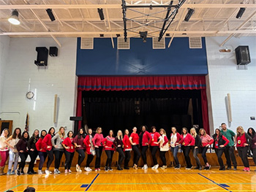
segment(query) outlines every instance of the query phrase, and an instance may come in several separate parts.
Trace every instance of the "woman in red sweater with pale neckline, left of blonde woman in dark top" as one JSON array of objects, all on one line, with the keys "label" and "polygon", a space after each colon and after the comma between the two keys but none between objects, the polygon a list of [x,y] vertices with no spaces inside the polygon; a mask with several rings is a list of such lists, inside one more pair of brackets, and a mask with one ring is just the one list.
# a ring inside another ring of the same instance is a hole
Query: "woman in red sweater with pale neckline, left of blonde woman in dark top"
[{"label": "woman in red sweater with pale neckline, left of blonde woman in dark top", "polygon": [[115,151],[115,145],[114,145],[115,137],[112,130],[109,131],[108,136],[105,137],[105,139],[102,140],[102,145],[104,147],[105,153],[107,155],[107,161],[105,164],[105,171],[113,171],[111,168],[112,164],[112,158]]}]

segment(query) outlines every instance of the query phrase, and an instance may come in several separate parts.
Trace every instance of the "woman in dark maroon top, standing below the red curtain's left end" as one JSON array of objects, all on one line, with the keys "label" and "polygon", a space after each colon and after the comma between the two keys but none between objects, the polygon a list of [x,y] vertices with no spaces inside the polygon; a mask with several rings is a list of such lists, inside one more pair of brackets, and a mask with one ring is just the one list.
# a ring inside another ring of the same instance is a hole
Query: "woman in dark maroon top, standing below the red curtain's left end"
[{"label": "woman in dark maroon top, standing below the red curtain's left end", "polygon": [[86,145],[83,144],[83,140],[86,138],[86,134],[83,128],[79,129],[78,134],[75,136],[74,138],[74,145],[75,145],[75,150],[78,152],[78,164],[76,164],[75,166],[75,170],[77,172],[82,172],[82,170],[80,169],[80,166],[84,160],[84,158],[86,158]]}]

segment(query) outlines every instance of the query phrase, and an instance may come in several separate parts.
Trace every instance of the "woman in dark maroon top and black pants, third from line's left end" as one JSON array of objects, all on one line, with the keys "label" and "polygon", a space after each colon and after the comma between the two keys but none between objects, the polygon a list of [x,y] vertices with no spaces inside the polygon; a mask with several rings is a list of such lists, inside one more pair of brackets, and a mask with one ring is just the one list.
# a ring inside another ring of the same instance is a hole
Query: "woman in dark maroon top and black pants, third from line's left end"
[{"label": "woman in dark maroon top and black pants, third from line's left end", "polygon": [[20,159],[21,159],[19,168],[17,169],[17,175],[24,174],[26,158],[28,158],[28,155],[29,155],[28,150],[27,150],[28,141],[29,141],[29,132],[24,131],[21,135],[21,139],[19,140],[19,142],[16,145],[18,153],[20,155]]}]

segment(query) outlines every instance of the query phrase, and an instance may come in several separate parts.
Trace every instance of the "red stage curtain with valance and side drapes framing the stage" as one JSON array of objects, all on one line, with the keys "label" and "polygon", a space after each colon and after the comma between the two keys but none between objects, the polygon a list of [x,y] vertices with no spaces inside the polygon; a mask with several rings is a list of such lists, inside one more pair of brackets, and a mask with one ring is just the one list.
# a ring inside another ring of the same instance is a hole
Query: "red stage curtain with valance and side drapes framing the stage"
[{"label": "red stage curtain with valance and side drapes framing the stage", "polygon": [[[203,128],[209,133],[205,76],[78,77],[77,116],[82,115],[82,91],[201,90]],[[79,123],[81,127],[81,123]]]}]

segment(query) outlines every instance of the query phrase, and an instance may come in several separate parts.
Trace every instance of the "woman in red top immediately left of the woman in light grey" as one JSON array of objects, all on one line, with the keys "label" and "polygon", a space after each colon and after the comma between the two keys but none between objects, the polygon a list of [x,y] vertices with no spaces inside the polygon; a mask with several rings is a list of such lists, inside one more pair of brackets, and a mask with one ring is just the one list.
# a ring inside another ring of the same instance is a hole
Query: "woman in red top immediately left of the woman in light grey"
[{"label": "woman in red top immediately left of the woman in light grey", "polygon": [[52,172],[49,171],[50,164],[53,162],[53,144],[51,143],[51,139],[55,135],[55,128],[51,127],[48,131],[48,134],[42,139],[42,147],[45,148],[46,153],[48,154],[47,168],[45,170],[45,174],[50,174]]}]

